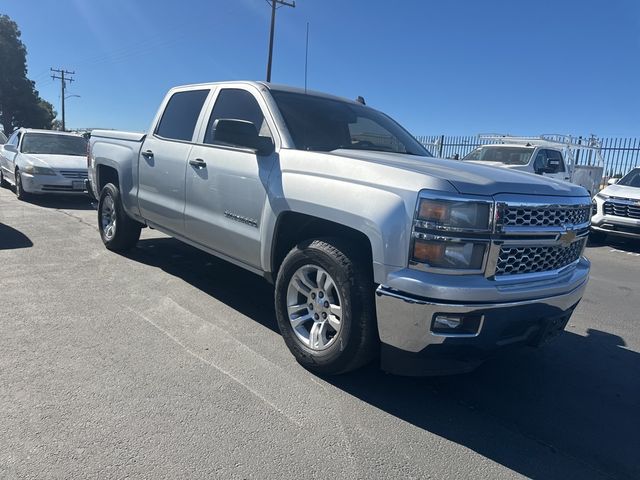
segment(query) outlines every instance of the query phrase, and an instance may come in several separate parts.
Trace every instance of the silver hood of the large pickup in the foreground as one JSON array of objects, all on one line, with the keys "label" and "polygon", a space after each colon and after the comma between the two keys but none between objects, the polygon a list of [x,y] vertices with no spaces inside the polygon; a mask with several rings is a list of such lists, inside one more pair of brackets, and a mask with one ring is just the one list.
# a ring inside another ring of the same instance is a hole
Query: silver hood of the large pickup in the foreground
[{"label": "silver hood of the large pickup in the foreground", "polygon": [[510,168],[480,165],[460,160],[346,149],[335,150],[327,155],[391,166],[438,178],[449,182],[459,193],[469,195],[514,193],[573,197],[588,196],[584,188],[568,182]]}]

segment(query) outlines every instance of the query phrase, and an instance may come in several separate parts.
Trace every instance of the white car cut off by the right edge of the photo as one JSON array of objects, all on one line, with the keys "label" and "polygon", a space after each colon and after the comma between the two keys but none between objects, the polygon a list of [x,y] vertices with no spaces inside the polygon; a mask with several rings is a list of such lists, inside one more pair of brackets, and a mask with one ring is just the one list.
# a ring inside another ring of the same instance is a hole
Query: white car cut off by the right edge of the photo
[{"label": "white car cut off by the right edge of the photo", "polygon": [[593,197],[591,240],[604,240],[607,234],[640,239],[640,167],[634,168]]}]

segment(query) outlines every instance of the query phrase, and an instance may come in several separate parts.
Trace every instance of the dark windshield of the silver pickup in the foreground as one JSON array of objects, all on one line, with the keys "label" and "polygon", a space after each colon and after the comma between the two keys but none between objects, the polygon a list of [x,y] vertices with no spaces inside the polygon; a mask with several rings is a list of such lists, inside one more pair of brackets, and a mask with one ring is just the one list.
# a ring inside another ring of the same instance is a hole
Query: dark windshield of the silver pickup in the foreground
[{"label": "dark windshield of the silver pickup in the foreground", "polygon": [[298,150],[347,148],[432,156],[405,129],[372,108],[302,93],[271,93]]}]

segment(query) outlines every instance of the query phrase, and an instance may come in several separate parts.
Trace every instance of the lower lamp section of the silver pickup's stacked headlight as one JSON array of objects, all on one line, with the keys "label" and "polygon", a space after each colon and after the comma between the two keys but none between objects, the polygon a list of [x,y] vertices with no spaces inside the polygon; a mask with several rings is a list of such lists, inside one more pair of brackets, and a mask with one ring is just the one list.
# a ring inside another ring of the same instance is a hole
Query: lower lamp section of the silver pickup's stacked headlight
[{"label": "lower lamp section of the silver pickup's stacked headlight", "polygon": [[413,242],[413,260],[432,268],[480,270],[485,250],[486,243],[416,238]]}]

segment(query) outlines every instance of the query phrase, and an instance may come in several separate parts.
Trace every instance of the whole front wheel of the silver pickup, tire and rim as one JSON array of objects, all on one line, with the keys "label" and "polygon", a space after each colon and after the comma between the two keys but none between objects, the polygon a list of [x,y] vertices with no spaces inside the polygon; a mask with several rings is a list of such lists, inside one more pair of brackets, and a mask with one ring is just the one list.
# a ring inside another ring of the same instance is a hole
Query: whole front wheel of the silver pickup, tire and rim
[{"label": "whole front wheel of the silver pickup, tire and rim", "polygon": [[375,355],[374,285],[366,261],[338,239],[303,242],[284,259],[276,280],[276,316],[303,367],[338,374]]}]

